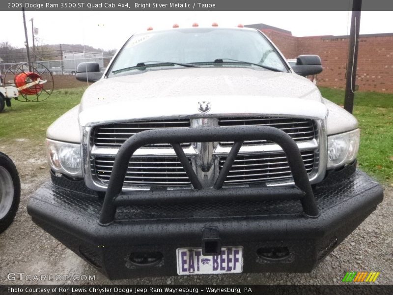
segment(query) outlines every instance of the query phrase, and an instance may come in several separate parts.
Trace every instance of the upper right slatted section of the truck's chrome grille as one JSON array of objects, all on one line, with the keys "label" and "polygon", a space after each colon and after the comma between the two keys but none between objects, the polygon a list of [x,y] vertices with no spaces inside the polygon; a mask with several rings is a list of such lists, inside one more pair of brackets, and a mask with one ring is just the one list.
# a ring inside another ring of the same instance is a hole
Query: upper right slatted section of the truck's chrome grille
[{"label": "upper right slatted section of the truck's chrome grille", "polygon": [[[271,126],[281,129],[296,142],[312,140],[316,134],[316,125],[310,119],[271,118],[271,117],[233,117],[219,118],[219,126]],[[266,140],[245,141],[243,145],[272,143]],[[232,146],[233,142],[220,142],[221,146]]]}]

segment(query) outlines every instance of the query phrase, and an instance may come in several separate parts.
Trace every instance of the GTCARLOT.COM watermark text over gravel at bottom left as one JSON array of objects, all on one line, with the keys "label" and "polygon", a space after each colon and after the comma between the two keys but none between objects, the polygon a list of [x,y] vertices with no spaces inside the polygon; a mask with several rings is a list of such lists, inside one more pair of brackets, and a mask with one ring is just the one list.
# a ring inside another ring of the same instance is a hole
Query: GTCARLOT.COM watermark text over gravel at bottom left
[{"label": "GTCARLOT.COM watermark text over gravel at bottom left", "polygon": [[10,272],[7,274],[9,281],[29,281],[29,282],[47,282],[47,281],[95,281],[95,275],[86,274],[29,274],[25,272]]}]

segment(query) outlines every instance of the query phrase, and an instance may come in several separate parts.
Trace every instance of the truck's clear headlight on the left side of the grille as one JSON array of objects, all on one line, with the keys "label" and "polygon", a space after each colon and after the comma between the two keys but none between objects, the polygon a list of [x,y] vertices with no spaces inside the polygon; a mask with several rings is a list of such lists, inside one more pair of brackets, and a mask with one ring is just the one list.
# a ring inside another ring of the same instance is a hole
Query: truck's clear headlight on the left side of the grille
[{"label": "truck's clear headlight on the left side of the grille", "polygon": [[81,145],[47,139],[46,146],[53,171],[82,177]]}]

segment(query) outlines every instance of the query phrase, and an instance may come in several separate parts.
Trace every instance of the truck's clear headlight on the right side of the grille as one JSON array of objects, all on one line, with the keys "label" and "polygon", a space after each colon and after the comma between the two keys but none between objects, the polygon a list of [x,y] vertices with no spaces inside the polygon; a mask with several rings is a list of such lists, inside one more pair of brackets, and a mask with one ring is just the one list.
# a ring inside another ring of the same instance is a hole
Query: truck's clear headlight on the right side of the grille
[{"label": "truck's clear headlight on the right side of the grille", "polygon": [[351,163],[359,151],[359,129],[328,136],[328,169]]}]

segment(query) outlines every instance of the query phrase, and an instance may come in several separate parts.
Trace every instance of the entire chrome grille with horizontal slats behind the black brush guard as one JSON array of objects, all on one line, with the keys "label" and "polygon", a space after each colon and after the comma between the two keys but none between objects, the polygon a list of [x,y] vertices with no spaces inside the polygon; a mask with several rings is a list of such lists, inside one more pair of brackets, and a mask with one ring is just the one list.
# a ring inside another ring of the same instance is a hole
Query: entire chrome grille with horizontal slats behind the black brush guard
[{"label": "entire chrome grille with horizontal slats behind the black brush guard", "polygon": [[[309,178],[313,179],[318,174],[320,162],[318,133],[320,130],[318,130],[318,123],[311,119],[243,116],[233,118],[221,117],[218,120],[217,118],[211,118],[211,122],[213,122],[212,125],[214,126],[265,125],[279,128],[289,134],[296,142],[302,142],[302,157]],[[120,148],[129,137],[144,130],[191,128],[191,126],[198,127],[199,124],[200,122],[195,118],[166,118],[134,120],[124,123],[95,126],[88,136],[91,146],[93,146],[92,153],[88,156],[88,174],[90,174],[92,182],[103,189],[109,183],[115,157],[114,151]],[[269,142],[246,141],[244,145],[260,145],[266,143]],[[232,144],[233,142],[221,142],[221,146],[218,146],[213,151],[212,156],[215,160],[215,169],[214,174],[211,175],[212,178],[217,177],[217,173],[221,171],[227,152],[229,152]],[[183,143],[182,146],[186,147],[185,152],[190,163],[192,165],[199,163],[201,156],[200,150],[198,150],[199,147],[193,144],[193,148],[191,148],[190,143]],[[172,187],[191,186],[191,181],[187,177],[184,168],[170,145],[150,145],[150,147],[162,147],[162,149],[139,149],[139,152],[129,162],[124,181],[125,188],[136,188],[138,186],[147,188],[152,185]],[[199,166],[197,166],[194,170],[198,177],[202,177],[199,169]],[[291,178],[289,165],[282,149],[276,145],[270,146],[268,149],[262,146],[255,146],[253,148],[246,148],[243,154],[240,153],[237,156],[228,177],[225,179],[225,184],[238,185],[269,181],[287,182],[291,181]],[[210,182],[206,182],[204,185],[209,185],[208,183]]]}]

